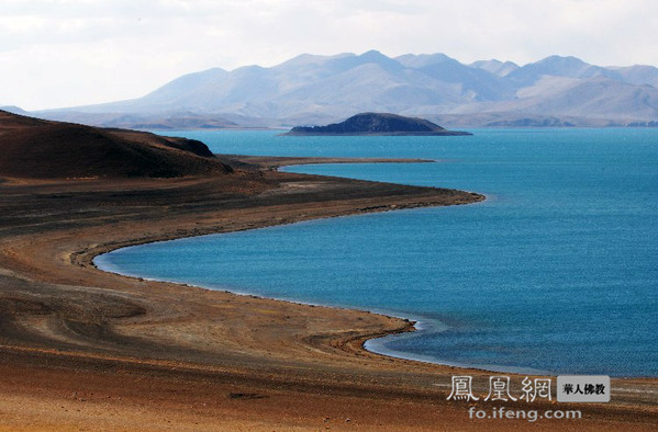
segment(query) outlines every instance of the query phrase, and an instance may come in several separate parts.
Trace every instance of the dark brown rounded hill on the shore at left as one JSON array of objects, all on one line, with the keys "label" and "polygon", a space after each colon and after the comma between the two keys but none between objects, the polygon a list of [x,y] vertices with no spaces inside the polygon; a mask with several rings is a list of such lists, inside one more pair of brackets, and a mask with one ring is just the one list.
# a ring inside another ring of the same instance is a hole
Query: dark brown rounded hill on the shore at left
[{"label": "dark brown rounded hill on the shore at left", "polygon": [[200,141],[0,111],[0,177],[171,178],[231,172]]}]

